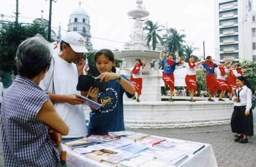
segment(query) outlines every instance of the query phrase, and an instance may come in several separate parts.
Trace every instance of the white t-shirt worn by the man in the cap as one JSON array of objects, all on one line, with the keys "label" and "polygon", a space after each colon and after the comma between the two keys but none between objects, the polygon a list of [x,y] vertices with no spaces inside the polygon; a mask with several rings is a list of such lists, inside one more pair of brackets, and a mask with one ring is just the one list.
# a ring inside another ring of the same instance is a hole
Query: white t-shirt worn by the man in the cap
[{"label": "white t-shirt worn by the man in the cap", "polygon": [[[54,66],[54,72],[53,72]],[[69,63],[58,55],[54,56],[54,62],[51,61],[49,71],[44,80],[40,82],[42,90],[53,93],[53,73],[54,73],[54,91],[57,95],[78,94],[78,71],[74,63]],[[55,110],[69,127],[69,134],[63,138],[82,137],[87,135],[86,117],[83,111],[83,105],[70,105],[67,102],[55,103]]]}]

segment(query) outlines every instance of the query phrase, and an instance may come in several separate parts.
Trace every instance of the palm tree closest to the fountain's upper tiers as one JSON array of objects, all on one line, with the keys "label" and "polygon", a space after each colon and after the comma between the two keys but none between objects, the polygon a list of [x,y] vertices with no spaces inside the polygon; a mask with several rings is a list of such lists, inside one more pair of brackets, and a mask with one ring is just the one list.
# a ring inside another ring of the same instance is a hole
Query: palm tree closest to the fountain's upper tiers
[{"label": "palm tree closest to the fountain's upper tiers", "polygon": [[148,31],[148,37],[146,37],[146,45],[150,45],[150,42],[152,43],[153,50],[157,47],[157,44],[160,42],[163,45],[162,37],[158,34],[158,32],[161,32],[164,30],[163,25],[158,25],[158,22],[153,23],[152,21],[148,20],[145,22],[146,27],[144,27],[144,30]]}]

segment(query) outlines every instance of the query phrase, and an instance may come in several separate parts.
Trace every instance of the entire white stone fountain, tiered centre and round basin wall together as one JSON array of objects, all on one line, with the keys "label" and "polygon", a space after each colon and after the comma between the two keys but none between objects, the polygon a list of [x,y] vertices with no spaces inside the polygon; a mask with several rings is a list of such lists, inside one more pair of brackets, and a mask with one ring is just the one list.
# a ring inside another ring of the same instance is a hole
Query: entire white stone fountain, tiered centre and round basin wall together
[{"label": "entire white stone fountain, tiered centre and round basin wall together", "polygon": [[[229,124],[234,106],[232,101],[217,101],[216,98],[215,102],[208,102],[207,97],[205,101],[196,102],[161,101],[160,78],[162,73],[158,71],[159,52],[146,49],[146,34],[143,32],[141,18],[149,16],[149,12],[141,7],[142,3],[143,1],[136,1],[137,8],[128,12],[129,16],[135,18],[130,34],[130,50],[114,53],[118,60],[123,60],[122,66],[126,68],[133,67],[137,58],[146,60],[141,102],[127,99],[124,101],[125,127],[127,129],[172,129]],[[153,60],[155,60],[155,67],[152,70],[150,62]],[[130,78],[131,72],[121,70],[120,73]],[[203,97],[201,98],[198,100],[203,100]],[[85,105],[84,110],[86,119],[88,119],[91,109]],[[256,120],[255,115],[254,120]]]}]

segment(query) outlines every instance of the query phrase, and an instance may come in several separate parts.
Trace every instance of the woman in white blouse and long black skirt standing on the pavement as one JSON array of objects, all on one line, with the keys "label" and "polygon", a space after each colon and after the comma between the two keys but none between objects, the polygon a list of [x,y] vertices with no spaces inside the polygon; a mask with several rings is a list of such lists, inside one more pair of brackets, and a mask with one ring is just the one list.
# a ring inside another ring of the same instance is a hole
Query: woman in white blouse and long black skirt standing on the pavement
[{"label": "woman in white blouse and long black skirt standing on the pavement", "polygon": [[245,77],[236,78],[237,97],[233,97],[235,101],[234,111],[231,117],[232,132],[238,133],[234,141],[239,143],[248,143],[248,136],[253,135],[253,112],[252,112],[252,86]]}]

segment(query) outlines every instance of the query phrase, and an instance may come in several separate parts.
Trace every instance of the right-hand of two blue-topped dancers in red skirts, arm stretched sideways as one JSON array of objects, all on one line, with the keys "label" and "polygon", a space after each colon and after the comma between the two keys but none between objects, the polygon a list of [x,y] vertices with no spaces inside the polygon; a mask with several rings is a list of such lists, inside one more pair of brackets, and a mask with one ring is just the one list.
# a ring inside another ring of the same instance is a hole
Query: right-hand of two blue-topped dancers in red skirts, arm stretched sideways
[{"label": "right-hand of two blue-topped dancers in red skirts, arm stretched sideways", "polygon": [[221,89],[219,82],[214,76],[214,68],[226,64],[227,63],[217,65],[216,63],[212,62],[211,56],[207,56],[205,62],[203,62],[202,64],[203,67],[206,68],[206,86],[209,90],[208,101],[214,101],[213,99],[211,99],[212,95],[215,94],[216,91],[219,91]]}]

